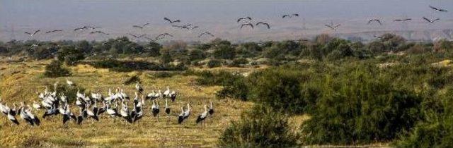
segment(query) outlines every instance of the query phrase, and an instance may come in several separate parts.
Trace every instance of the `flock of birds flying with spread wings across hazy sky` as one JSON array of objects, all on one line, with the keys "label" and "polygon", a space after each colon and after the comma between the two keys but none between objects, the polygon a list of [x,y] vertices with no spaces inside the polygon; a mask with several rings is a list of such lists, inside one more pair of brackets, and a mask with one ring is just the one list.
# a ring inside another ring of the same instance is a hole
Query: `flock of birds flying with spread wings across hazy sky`
[{"label": "flock of birds flying with spread wings across hazy sky", "polygon": [[[433,11],[437,11],[437,12],[443,12],[443,13],[447,13],[448,11],[444,8],[437,8],[435,6],[429,6],[430,9],[432,9]],[[282,15],[282,19],[289,19],[289,18],[294,18],[294,17],[299,17],[299,13],[292,13],[292,14],[284,14]],[[422,17],[423,20],[425,20],[426,22],[428,23],[435,23],[436,21],[440,20],[440,18],[426,18],[425,16]],[[394,22],[406,22],[406,21],[411,21],[413,20],[412,18],[401,18],[401,19],[396,19],[394,20]],[[167,18],[167,17],[164,17],[164,21],[166,21],[167,23],[171,24],[171,27],[176,27],[176,28],[180,28],[182,30],[195,30],[197,28],[200,28],[199,26],[197,25],[193,25],[193,24],[185,24],[185,25],[182,25],[180,23],[182,23],[181,20],[178,20],[178,19],[171,19],[171,18]],[[258,26],[263,26],[267,29],[270,29],[271,25],[269,23],[265,23],[263,21],[260,21],[258,23],[253,23],[253,19],[250,17],[250,16],[244,16],[242,18],[238,18],[236,20],[237,23],[239,23],[239,28],[240,29],[243,29],[244,27],[250,27],[251,29],[255,28],[255,27],[258,27]],[[367,25],[372,25],[372,24],[379,24],[379,25],[383,25],[383,22],[382,20],[379,20],[379,19],[370,19],[368,20],[368,23]],[[139,30],[142,30],[144,29],[144,27],[147,27],[149,26],[150,23],[144,23],[144,24],[140,24],[140,25],[132,25],[132,27],[134,28],[138,28]],[[338,28],[341,26],[341,24],[326,24],[324,25],[325,27],[328,27],[328,29],[331,29],[331,30],[338,30]],[[77,27],[74,29],[74,31],[84,31],[84,30],[91,30],[90,32],[90,35],[93,35],[93,34],[101,34],[101,35],[110,35],[108,32],[103,32],[101,30],[96,30],[98,29],[99,27],[93,27],[93,26],[82,26],[82,27]],[[35,30],[33,33],[31,32],[25,32],[25,34],[27,35],[30,35],[30,37],[33,37],[35,35],[37,35],[38,33],[40,32],[40,30]],[[50,34],[50,33],[57,33],[57,32],[63,32],[63,30],[50,30],[50,31],[47,31],[45,32],[45,34]],[[147,34],[142,34],[142,35],[133,35],[132,33],[128,33],[127,35],[130,35],[132,37],[134,37],[135,39],[141,39],[141,38],[144,38],[144,39],[148,39],[149,41],[152,41],[152,42],[156,42],[160,39],[164,39],[166,37],[173,37],[173,35],[169,34],[169,33],[162,33],[160,35],[157,35],[156,37],[148,37]],[[211,32],[202,32],[200,33],[197,37],[215,37]]]}]

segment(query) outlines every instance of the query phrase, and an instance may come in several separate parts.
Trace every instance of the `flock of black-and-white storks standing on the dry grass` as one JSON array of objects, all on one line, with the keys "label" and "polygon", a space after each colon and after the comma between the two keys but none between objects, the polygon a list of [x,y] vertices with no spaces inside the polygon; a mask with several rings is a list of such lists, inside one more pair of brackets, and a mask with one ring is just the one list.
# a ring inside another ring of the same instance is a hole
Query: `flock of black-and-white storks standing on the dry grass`
[{"label": "flock of black-and-white storks standing on the dry grass", "polygon": [[[87,94],[80,93],[78,90],[76,93],[75,106],[79,108],[79,113],[76,114],[71,111],[69,98],[65,96],[63,92],[57,92],[57,85],[56,82],[54,84],[53,92],[49,92],[47,87],[45,87],[44,92],[36,92],[40,99],[40,103],[33,101],[33,108],[28,104],[26,105],[24,101],[21,102],[20,106],[16,106],[16,104],[8,106],[0,99],[0,112],[3,113],[11,123],[16,125],[19,125],[16,116],[20,116],[23,121],[31,126],[40,125],[41,121],[38,116],[36,116],[37,114],[33,113],[34,111],[32,109],[43,111],[42,118],[61,115],[62,123],[65,126],[67,126],[68,121],[71,120],[78,125],[81,125],[83,121],[88,120],[88,118],[92,119],[92,121],[99,121],[99,116],[104,113],[106,113],[107,116],[114,118],[114,122],[116,121],[116,118],[122,118],[123,121],[127,123],[135,123],[145,115],[145,100],[152,102],[151,115],[156,118],[156,121],[159,121],[159,113],[161,113],[159,99],[165,99],[164,112],[167,116],[168,123],[171,118],[171,108],[168,106],[168,98],[174,102],[178,95],[178,92],[174,90],[171,91],[167,86],[164,93],[162,93],[161,90],[158,90],[157,92],[152,90],[151,93],[145,96],[145,94],[143,94],[143,87],[137,82],[135,85],[135,97],[131,102],[133,106],[132,109],[130,109],[130,106],[128,106],[128,103],[131,101],[130,97],[120,88],[117,88],[115,92],[112,92],[109,89],[107,97],[104,97],[101,93],[91,93],[90,97]],[[69,85],[69,87],[75,87],[74,82],[70,80],[67,80],[67,85]],[[100,102],[102,103],[102,106],[98,107],[98,103]],[[121,104],[121,106],[119,104]],[[118,107],[120,109],[118,109]],[[210,102],[210,106],[205,105],[203,107],[204,111],[197,116],[195,121],[197,124],[205,123],[207,117],[211,117],[212,121],[212,115],[214,114],[212,102]],[[180,109],[181,112],[177,118],[178,124],[187,124],[188,118],[192,112],[192,106],[187,104],[185,109],[184,106]]]}]

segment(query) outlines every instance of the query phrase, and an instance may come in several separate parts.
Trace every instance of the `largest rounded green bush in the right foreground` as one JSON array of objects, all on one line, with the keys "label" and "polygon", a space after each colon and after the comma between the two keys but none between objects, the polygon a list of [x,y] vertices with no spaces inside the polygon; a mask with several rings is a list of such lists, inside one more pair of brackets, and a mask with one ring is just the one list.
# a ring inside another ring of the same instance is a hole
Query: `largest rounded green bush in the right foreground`
[{"label": "largest rounded green bush in the right foreground", "polygon": [[[378,74],[379,73],[379,74]],[[420,96],[375,68],[326,75],[313,116],[303,124],[306,144],[369,144],[394,140],[422,118]]]}]

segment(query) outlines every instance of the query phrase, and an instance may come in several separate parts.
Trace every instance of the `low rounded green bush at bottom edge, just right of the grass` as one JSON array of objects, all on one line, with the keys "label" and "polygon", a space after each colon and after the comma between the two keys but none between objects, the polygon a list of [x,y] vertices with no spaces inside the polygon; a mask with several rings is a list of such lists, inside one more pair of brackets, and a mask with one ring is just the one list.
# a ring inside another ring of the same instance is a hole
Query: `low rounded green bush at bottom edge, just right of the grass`
[{"label": "low rounded green bush at bottom edge, just right of the grass", "polygon": [[224,130],[220,147],[296,147],[298,135],[292,133],[287,117],[265,106],[255,106]]}]

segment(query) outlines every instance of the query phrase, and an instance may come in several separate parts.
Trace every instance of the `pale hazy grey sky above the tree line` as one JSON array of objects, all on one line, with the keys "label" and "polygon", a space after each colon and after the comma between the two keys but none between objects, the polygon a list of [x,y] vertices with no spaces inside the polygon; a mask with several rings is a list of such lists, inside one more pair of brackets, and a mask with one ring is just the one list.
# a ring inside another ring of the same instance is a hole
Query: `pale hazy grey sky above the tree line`
[{"label": "pale hazy grey sky above the tree line", "polygon": [[[75,27],[93,25],[110,32],[109,37],[128,33],[150,37],[171,32],[175,39],[197,40],[200,32],[237,40],[302,37],[320,33],[354,33],[382,30],[453,29],[451,12],[432,11],[428,6],[453,11],[451,0],[301,0],[301,1],[233,1],[233,0],[0,0],[0,40],[30,39],[23,32],[61,29],[57,35],[36,35],[33,39],[105,39],[104,35],[73,32]],[[299,17],[282,19],[287,13]],[[252,23],[265,21],[271,29],[243,29],[237,18],[251,16]],[[421,18],[441,18],[435,24]],[[171,27],[164,17],[179,19],[179,25],[192,23],[198,30]],[[381,19],[384,25],[367,25],[367,20]],[[394,23],[394,19],[413,18],[411,23]],[[132,25],[150,23],[144,30]],[[341,24],[328,30],[324,24]],[[42,33],[42,32],[41,32]]]}]

